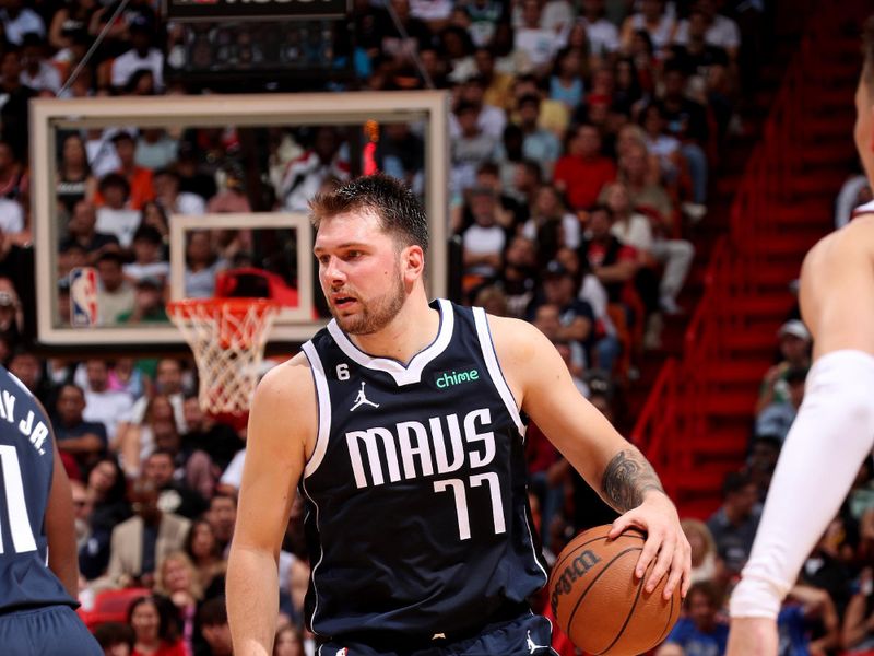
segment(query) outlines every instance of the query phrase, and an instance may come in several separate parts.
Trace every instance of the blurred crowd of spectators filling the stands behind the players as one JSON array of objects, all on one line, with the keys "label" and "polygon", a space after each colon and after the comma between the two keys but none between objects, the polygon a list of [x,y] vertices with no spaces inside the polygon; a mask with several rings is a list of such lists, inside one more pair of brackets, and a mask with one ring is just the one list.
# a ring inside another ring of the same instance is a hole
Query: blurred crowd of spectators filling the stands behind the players
[{"label": "blurred crowd of spectators filling the stands behind the players", "polygon": [[[22,311],[33,288],[20,266],[33,248],[29,98],[211,90],[168,73],[184,33],[149,0],[0,7],[0,358],[55,421],[73,479],[83,614],[107,653],[229,654],[223,577],[245,429],[202,412],[189,360],[37,358]],[[696,226],[708,220],[724,148],[744,129],[741,91],[755,77],[765,15],[765,3],[748,0],[356,0],[351,39],[338,48],[355,81],[327,75],[321,87],[447,90],[448,227],[461,300],[536,325],[580,394],[615,418],[641,353],[660,348],[665,315],[684,312]],[[223,60],[262,57],[258,44],[226,43],[220,32],[200,30],[197,43],[225,48]],[[70,273],[81,267],[96,269],[99,325],[166,321],[173,215],[305,211],[319,190],[377,169],[426,192],[416,122],[114,126],[61,129],[55,141],[58,239],[38,247],[57,248],[61,326],[71,321]],[[220,273],[238,267],[295,284],[291,263],[267,257],[245,229],[192,231],[185,248],[189,297],[215,295]],[[687,523],[699,583],[665,654],[720,653],[699,636],[721,631],[718,611],[803,394],[805,335],[796,320],[781,329],[783,361],[763,383],[749,466],[727,481],[710,522]],[[536,426],[528,434],[532,506],[555,554],[612,511]],[[814,641],[810,653],[838,644],[828,642],[838,617],[853,644],[872,640],[872,573],[859,566],[874,537],[867,485],[860,479],[854,509],[836,520],[793,591],[803,610],[787,625]],[[312,651],[302,629],[309,565],[299,513],[296,505],[280,558],[275,654]],[[109,617],[119,598],[132,604]],[[848,618],[857,618],[849,629]]]}]

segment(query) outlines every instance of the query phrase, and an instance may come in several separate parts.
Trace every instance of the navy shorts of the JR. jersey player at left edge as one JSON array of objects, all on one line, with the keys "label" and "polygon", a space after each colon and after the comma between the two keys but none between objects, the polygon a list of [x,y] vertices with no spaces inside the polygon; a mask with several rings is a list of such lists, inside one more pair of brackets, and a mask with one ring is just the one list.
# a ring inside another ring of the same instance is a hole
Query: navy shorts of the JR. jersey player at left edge
[{"label": "navy shorts of the JR. jersey player at left edge", "polygon": [[3,656],[103,656],[94,636],[69,606],[48,606],[0,616]]}]

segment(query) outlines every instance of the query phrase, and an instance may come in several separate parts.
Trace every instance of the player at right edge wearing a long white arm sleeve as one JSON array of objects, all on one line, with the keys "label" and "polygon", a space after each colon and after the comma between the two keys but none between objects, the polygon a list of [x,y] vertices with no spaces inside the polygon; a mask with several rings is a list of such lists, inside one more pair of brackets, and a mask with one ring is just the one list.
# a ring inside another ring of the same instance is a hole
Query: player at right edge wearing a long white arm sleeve
[{"label": "player at right edge wearing a long white arm sleeve", "polygon": [[[855,92],[855,145],[874,180],[874,16]],[[822,239],[801,271],[814,338],[804,402],[789,431],[758,534],[731,598],[731,656],[777,654],[777,613],[874,445],[874,203]],[[817,475],[828,481],[811,484]]]}]

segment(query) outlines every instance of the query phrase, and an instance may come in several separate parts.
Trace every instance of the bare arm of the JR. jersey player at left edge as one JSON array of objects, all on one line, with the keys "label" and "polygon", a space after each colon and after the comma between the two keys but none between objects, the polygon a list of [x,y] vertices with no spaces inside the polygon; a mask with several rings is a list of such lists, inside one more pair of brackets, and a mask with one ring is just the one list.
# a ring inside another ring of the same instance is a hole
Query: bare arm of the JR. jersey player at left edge
[{"label": "bare arm of the JR. jersey player at left edge", "polygon": [[[48,415],[46,415],[48,417]],[[63,584],[73,599],[79,597],[79,555],[75,548],[75,526],[73,517],[73,493],[70,479],[58,453],[58,443],[51,432],[54,467],[51,490],[44,519],[48,540],[48,566]]]}]

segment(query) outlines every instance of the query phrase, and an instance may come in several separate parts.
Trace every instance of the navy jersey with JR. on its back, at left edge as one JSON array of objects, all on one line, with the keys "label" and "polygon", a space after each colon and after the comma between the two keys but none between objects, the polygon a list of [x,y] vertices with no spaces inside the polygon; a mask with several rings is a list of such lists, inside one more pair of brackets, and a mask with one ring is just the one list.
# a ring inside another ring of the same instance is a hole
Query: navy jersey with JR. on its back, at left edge
[{"label": "navy jersey with JR. on its back, at left edge", "polygon": [[0,366],[0,612],[76,606],[47,565],[43,520],[54,460],[48,418],[27,388]]}]

